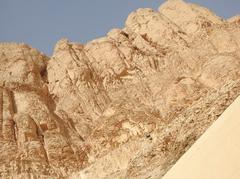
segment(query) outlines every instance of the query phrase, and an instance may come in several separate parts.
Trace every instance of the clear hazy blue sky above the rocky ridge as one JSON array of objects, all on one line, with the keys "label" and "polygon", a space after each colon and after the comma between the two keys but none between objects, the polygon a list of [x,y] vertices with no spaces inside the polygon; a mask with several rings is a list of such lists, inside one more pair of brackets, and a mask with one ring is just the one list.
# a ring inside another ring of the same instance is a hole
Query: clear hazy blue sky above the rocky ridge
[{"label": "clear hazy blue sky above the rocky ridge", "polygon": [[[240,0],[187,0],[228,18],[240,14]],[[86,43],[121,28],[140,7],[164,0],[0,0],[0,41],[24,42],[51,55],[61,38]]]}]

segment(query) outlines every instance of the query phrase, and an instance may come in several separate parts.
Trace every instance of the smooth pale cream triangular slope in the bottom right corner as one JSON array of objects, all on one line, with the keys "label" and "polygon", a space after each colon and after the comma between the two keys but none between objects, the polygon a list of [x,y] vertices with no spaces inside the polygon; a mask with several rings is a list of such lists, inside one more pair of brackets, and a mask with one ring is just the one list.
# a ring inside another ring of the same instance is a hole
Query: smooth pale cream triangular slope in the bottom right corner
[{"label": "smooth pale cream triangular slope in the bottom right corner", "polygon": [[240,178],[240,97],[183,155],[164,179]]}]

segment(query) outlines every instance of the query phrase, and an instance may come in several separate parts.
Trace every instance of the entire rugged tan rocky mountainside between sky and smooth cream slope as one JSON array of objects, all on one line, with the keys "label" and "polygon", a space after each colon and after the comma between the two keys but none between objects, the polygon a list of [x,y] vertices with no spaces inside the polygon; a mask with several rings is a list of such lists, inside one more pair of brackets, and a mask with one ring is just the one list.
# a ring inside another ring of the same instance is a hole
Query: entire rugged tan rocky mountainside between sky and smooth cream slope
[{"label": "entire rugged tan rocky mountainside between sky and smooth cream slope", "polygon": [[240,20],[168,0],[51,58],[0,44],[1,178],[161,178],[240,94]]}]

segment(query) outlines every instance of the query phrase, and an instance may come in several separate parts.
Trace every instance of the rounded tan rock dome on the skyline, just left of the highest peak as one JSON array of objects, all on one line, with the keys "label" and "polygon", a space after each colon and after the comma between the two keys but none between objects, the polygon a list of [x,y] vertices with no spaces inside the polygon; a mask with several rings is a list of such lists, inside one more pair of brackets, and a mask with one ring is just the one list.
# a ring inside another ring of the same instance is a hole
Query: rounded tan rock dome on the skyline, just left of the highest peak
[{"label": "rounded tan rock dome on the skyline, just left of the highest peak", "polygon": [[186,45],[187,36],[161,13],[152,9],[138,9],[126,20],[126,28],[158,48]]}]

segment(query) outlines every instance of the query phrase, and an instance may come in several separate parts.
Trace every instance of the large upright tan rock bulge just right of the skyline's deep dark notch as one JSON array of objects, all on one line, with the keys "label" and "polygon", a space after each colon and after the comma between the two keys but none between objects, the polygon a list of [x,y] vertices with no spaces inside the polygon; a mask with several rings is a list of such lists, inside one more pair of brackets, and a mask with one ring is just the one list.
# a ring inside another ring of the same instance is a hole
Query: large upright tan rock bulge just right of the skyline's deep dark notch
[{"label": "large upright tan rock bulge just right of the skyline's deep dark notch", "polygon": [[58,42],[47,71],[57,110],[68,115],[85,112],[93,119],[102,114],[109,98],[81,45]]}]

